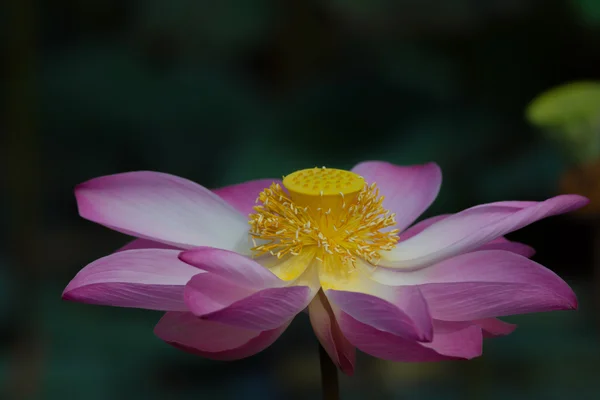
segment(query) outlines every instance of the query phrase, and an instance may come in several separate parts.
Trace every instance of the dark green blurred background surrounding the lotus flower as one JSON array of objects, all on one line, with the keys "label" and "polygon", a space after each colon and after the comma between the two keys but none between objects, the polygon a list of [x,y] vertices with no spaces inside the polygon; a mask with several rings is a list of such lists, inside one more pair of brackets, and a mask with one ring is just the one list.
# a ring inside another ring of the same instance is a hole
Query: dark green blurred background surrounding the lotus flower
[{"label": "dark green blurred background surrounding the lotus flower", "polygon": [[[129,240],[78,217],[77,183],[149,169],[219,187],[315,165],[436,161],[444,183],[427,215],[541,200],[577,166],[526,107],[556,85],[600,78],[597,0],[0,7],[3,399],[320,393],[305,315],[263,353],[224,363],[162,343],[160,313],[61,301],[80,268]],[[583,213],[509,236],[574,287],[579,311],[508,318],[517,331],[469,362],[361,354],[355,377],[341,378],[343,398],[600,398],[596,226]]]}]

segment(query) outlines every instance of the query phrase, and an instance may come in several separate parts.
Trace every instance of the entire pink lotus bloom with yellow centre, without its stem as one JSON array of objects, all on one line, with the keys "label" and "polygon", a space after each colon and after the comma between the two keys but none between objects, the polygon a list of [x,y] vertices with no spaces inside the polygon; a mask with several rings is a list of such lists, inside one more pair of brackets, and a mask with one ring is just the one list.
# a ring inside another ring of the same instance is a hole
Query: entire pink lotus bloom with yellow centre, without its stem
[{"label": "entire pink lotus bloom with yellow centre, without its stem", "polygon": [[83,268],[63,297],[165,311],[158,337],[218,360],[265,349],[307,309],[348,374],[355,348],[471,359],[483,337],[513,331],[497,317],[577,307],[533,249],[503,235],[587,199],[503,201],[412,225],[440,185],[436,164],[377,161],[214,191],[157,172],[92,179],[75,190],[80,215],[137,239]]}]

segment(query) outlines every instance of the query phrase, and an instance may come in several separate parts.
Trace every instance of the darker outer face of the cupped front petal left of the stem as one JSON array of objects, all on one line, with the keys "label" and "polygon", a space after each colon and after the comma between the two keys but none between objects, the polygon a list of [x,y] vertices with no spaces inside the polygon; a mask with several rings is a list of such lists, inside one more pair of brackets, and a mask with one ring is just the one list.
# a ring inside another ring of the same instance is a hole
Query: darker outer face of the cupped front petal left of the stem
[{"label": "darker outer face of the cupped front petal left of the stem", "polygon": [[[210,278],[202,279],[203,275]],[[233,285],[213,286],[210,290],[214,278],[222,280],[213,274],[196,275],[190,280],[184,293],[188,309],[205,320],[241,328],[275,329],[294,318],[314,297],[308,286],[267,288],[252,294]]]}]

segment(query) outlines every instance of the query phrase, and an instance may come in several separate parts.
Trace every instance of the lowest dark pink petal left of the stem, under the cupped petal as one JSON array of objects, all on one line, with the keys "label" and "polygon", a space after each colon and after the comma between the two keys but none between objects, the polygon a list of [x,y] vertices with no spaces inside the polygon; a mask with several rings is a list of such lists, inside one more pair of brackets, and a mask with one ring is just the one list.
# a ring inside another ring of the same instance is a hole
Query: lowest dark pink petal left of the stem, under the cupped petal
[{"label": "lowest dark pink petal left of the stem, under the cupped petal", "polygon": [[255,331],[205,321],[188,312],[168,312],[154,333],[170,345],[213,360],[237,360],[269,347],[288,327]]}]

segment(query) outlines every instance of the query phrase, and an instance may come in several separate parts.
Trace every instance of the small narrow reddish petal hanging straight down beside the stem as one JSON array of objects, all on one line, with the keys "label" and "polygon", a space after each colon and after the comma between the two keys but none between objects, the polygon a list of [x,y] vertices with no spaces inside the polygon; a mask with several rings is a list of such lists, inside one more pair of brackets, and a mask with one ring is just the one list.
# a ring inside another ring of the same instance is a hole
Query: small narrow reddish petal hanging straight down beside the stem
[{"label": "small narrow reddish petal hanging straight down beside the stem", "polygon": [[356,350],[340,330],[329,301],[323,292],[319,292],[310,302],[308,312],[311,325],[321,346],[342,372],[352,376]]}]

